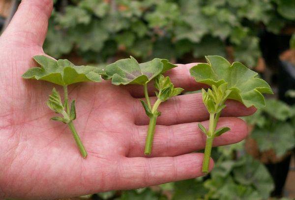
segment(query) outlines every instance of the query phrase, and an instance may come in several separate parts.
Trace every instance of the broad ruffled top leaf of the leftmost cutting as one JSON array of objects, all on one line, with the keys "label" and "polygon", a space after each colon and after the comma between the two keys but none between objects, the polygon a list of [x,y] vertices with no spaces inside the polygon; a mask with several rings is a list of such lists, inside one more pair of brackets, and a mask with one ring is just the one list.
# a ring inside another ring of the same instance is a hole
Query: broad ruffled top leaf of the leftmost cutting
[{"label": "broad ruffled top leaf of the leftmost cutting", "polygon": [[41,67],[30,68],[23,78],[46,80],[58,85],[70,85],[78,82],[101,81],[101,69],[91,66],[75,66],[67,59],[58,61],[44,55],[36,55],[34,60]]}]

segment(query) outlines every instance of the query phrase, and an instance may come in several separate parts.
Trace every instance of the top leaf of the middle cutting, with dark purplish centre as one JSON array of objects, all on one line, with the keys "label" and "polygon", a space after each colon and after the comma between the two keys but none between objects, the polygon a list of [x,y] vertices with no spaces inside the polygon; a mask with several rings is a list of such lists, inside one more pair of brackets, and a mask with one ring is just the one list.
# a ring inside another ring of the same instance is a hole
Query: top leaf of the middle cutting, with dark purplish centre
[{"label": "top leaf of the middle cutting, with dark purplish centre", "polygon": [[138,63],[135,58],[121,59],[105,68],[104,79],[111,79],[115,85],[138,84],[143,85],[155,76],[170,70],[176,65],[168,60],[155,58],[145,63]]}]

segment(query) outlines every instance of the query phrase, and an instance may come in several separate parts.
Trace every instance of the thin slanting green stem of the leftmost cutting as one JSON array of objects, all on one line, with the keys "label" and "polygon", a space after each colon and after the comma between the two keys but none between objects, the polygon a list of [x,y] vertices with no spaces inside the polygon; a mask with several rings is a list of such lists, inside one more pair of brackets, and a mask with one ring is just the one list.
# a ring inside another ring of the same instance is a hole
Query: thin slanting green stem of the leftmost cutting
[{"label": "thin slanting green stem of the leftmost cutting", "polygon": [[[64,102],[65,102],[65,109],[66,109],[66,113],[68,116],[70,116],[70,108],[69,108],[69,103],[68,103],[68,100],[69,100],[69,97],[68,97],[68,91],[67,91],[67,85],[63,86],[63,93],[64,93]],[[76,128],[73,124],[73,121],[70,121],[68,124],[67,124],[74,136],[74,139],[76,141],[76,144],[83,156],[83,158],[86,158],[87,157],[87,151],[85,150],[85,147],[83,146],[83,143],[76,131]]]}]

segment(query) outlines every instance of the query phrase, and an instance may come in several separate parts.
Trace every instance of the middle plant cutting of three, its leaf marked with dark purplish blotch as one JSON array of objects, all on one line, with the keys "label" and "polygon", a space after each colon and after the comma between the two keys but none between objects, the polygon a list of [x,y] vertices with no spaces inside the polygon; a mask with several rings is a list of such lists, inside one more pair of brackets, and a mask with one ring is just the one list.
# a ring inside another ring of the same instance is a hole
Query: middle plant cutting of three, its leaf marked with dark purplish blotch
[{"label": "middle plant cutting of three, its leaf marked with dark purplish blotch", "polygon": [[[104,70],[104,79],[112,79],[114,85],[136,84],[142,85],[146,101],[141,100],[147,116],[149,117],[148,134],[146,140],[145,154],[149,155],[152,149],[152,141],[155,131],[159,105],[169,100],[171,97],[179,95],[183,89],[175,88],[168,76],[162,75],[176,65],[171,64],[166,59],[154,58],[145,63],[138,63],[135,58],[121,59],[108,65]],[[148,96],[148,83],[154,80],[154,86],[158,90],[155,92],[157,100],[151,105]]]}]

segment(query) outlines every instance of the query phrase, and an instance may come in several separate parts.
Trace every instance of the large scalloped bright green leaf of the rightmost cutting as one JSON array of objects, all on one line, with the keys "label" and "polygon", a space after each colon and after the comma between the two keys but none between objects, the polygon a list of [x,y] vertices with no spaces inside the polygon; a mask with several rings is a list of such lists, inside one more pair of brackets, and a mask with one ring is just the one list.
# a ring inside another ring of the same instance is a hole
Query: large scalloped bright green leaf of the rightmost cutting
[{"label": "large scalloped bright green leaf of the rightmost cutting", "polygon": [[227,90],[231,93],[228,99],[238,100],[246,107],[254,105],[264,107],[262,93],[273,94],[271,88],[257,73],[239,62],[230,64],[225,58],[217,55],[206,56],[207,63],[201,63],[190,69],[197,82],[220,86],[228,83]]}]

